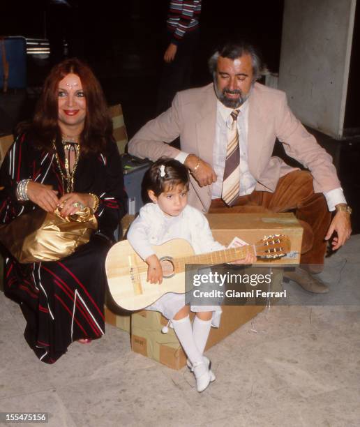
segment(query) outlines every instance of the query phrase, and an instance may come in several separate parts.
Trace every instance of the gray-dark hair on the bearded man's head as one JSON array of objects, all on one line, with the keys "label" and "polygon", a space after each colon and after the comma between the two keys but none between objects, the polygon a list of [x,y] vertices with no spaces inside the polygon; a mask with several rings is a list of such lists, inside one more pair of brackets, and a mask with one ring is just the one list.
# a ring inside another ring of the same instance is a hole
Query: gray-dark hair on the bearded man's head
[{"label": "gray-dark hair on the bearded man's head", "polygon": [[216,69],[218,66],[218,57],[237,59],[243,54],[249,54],[251,61],[253,62],[253,81],[259,80],[262,76],[262,60],[260,59],[260,54],[255,50],[253,45],[250,45],[246,42],[240,43],[225,43],[221,45],[218,50],[210,57],[209,59],[209,70],[213,75],[213,78],[216,77]]}]

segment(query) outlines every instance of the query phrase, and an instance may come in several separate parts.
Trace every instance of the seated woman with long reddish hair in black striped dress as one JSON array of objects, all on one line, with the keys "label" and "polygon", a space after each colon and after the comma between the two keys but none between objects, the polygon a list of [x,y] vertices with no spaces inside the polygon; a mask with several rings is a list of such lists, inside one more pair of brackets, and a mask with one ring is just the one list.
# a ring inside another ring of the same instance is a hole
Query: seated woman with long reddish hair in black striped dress
[{"label": "seated woman with long reddish hair in black striped dress", "polygon": [[6,255],[4,292],[20,303],[24,336],[41,361],[54,363],[74,340],[105,332],[105,256],[124,213],[125,194],[112,121],[100,84],[78,59],[55,66],[33,121],[1,167],[0,222],[36,206],[61,215],[93,209],[98,230],[58,262],[20,264]]}]

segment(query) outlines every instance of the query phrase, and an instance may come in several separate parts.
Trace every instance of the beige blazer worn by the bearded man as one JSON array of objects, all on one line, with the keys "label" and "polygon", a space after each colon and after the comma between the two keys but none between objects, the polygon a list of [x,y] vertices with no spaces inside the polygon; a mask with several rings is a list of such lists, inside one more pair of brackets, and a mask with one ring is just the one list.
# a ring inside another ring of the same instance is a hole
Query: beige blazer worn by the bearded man
[{"label": "beige blazer worn by the bearded man", "polygon": [[[172,107],[149,121],[130,140],[128,152],[157,160],[175,157],[179,150],[169,144],[180,136],[181,150],[213,164],[216,135],[216,95],[213,84],[178,92]],[[248,166],[257,180],[256,190],[273,191],[278,179],[294,170],[278,157],[271,157],[276,137],[288,156],[310,170],[314,189],[324,193],[340,187],[332,158],[317,144],[287,106],[283,91],[255,83],[249,97]],[[189,203],[207,212],[211,186],[200,187],[190,177]]]}]

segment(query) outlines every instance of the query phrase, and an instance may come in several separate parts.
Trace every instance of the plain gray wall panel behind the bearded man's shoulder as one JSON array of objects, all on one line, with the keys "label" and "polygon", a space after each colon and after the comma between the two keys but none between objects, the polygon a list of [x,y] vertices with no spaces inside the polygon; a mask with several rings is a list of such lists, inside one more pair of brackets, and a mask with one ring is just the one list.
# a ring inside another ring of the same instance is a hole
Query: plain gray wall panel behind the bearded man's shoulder
[{"label": "plain gray wall panel behind the bearded man's shoulder", "polygon": [[343,136],[356,0],[285,0],[278,87],[306,125]]}]

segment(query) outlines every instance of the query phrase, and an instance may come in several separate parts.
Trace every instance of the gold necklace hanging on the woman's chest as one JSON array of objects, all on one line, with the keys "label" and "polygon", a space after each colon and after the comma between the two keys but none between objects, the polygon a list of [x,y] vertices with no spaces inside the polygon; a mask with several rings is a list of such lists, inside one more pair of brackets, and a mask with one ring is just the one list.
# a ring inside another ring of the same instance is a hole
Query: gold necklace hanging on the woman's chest
[{"label": "gold necklace hanging on the woman's chest", "polygon": [[[52,144],[55,151],[55,158],[57,160],[57,166],[59,167],[59,172],[61,174],[62,183],[66,181],[66,193],[73,193],[74,191],[74,178],[75,171],[77,167],[77,163],[79,162],[80,157],[80,144],[76,141],[77,137],[67,137],[67,135],[63,135],[61,140],[64,150],[64,158],[65,158],[65,173],[63,172],[63,167],[61,167],[61,162],[59,158],[59,153],[57,152],[57,147],[55,145],[55,140],[53,140]],[[66,156],[66,151],[68,151],[68,156]],[[73,153],[75,155],[75,162],[73,165],[73,170],[70,170],[70,155]],[[63,188],[65,189],[64,185]]]}]

